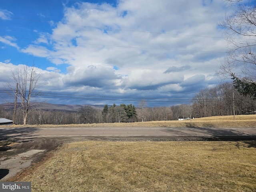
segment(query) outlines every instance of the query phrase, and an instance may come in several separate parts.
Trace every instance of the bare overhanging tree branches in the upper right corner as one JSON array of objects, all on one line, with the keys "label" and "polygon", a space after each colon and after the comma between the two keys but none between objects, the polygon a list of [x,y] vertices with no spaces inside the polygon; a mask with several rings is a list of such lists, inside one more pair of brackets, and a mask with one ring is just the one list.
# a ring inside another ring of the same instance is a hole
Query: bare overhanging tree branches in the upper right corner
[{"label": "bare overhanging tree branches in the upper right corner", "polygon": [[225,0],[233,9],[222,19],[228,42],[226,60],[217,73],[225,78],[256,83],[256,6],[250,0]]}]

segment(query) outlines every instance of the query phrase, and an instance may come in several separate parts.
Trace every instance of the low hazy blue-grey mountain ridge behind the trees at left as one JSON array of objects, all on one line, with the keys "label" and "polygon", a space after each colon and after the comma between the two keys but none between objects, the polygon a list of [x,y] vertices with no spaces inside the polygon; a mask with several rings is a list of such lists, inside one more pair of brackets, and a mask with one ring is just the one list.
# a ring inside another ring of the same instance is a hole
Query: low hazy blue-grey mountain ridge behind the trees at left
[{"label": "low hazy blue-grey mountain ridge behind the trees at left", "polygon": [[[20,103],[17,103],[17,107]],[[52,104],[52,103],[36,103],[31,102],[31,107],[42,110],[65,110],[65,111],[79,111],[84,106],[92,106],[93,108],[103,109],[102,105],[69,105],[69,104]],[[5,109],[14,109],[14,103],[3,103],[0,107]]]}]

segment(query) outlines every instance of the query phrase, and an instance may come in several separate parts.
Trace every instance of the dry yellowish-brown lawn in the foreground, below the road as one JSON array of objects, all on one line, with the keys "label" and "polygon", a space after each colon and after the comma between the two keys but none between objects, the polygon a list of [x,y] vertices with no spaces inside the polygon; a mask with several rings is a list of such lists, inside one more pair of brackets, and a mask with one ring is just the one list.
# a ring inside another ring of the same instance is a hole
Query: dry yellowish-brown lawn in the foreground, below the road
[{"label": "dry yellowish-brown lawn in the foreground, below the road", "polygon": [[73,142],[20,180],[32,192],[255,192],[256,142]]}]

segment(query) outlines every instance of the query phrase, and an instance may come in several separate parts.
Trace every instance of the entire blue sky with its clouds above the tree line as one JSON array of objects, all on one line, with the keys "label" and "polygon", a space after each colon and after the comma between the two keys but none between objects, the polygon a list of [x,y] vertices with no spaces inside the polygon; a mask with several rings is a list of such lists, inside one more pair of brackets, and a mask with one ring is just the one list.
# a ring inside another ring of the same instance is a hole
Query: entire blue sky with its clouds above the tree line
[{"label": "entire blue sky with its clouds above the tree line", "polygon": [[222,0],[2,1],[0,88],[34,62],[43,92],[69,94],[40,98],[51,103],[186,103],[220,83],[226,12]]}]

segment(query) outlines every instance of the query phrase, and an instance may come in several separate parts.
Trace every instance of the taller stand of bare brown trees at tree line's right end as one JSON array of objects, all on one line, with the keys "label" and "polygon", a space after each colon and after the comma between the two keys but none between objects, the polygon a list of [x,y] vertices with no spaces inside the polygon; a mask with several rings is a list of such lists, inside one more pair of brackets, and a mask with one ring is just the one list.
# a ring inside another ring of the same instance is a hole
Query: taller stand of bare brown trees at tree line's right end
[{"label": "taller stand of bare brown trees at tree line's right end", "polygon": [[[234,97],[233,97],[234,93]],[[205,88],[198,92],[192,101],[194,117],[255,114],[254,96],[240,94],[232,83],[223,83],[214,88]]]}]

